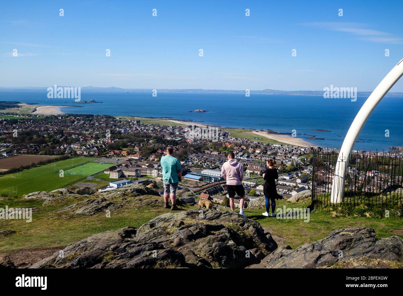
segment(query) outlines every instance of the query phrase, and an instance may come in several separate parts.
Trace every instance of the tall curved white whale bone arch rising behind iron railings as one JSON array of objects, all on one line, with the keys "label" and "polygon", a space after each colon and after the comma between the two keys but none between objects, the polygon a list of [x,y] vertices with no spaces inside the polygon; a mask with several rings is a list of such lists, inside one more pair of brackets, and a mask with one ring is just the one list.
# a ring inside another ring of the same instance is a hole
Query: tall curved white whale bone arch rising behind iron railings
[{"label": "tall curved white whale bone arch rising behind iron railings", "polygon": [[339,157],[337,157],[337,163],[334,171],[334,178],[332,182],[332,191],[330,195],[330,203],[341,203],[344,195],[345,176],[347,170],[347,164],[349,157],[353,151],[354,144],[357,141],[359,133],[361,132],[368,117],[370,117],[372,111],[388,91],[395,85],[395,83],[403,75],[403,59],[397,63],[395,67],[385,76],[384,79],[378,84],[376,89],[371,93],[368,99],[362,105],[361,109],[355,116],[353,123],[351,124],[349,131],[341,146]]}]

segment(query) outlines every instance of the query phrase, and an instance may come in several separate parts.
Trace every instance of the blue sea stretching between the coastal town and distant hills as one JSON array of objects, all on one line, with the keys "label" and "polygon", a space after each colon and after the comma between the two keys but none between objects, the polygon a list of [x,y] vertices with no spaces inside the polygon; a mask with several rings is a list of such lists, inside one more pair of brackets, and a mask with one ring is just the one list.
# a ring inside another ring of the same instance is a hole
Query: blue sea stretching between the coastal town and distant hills
[{"label": "blue sea stretching between the coastal town and distant hills", "polygon": [[[264,95],[243,93],[172,93],[81,91],[81,101],[102,103],[75,104],[74,99],[48,99],[47,91],[0,91],[0,101],[20,101],[40,105],[73,105],[64,113],[108,114],[112,116],[169,117],[233,127],[297,131],[297,137],[322,147],[337,147],[367,97],[324,99],[313,95]],[[66,101],[70,103],[66,103]],[[75,106],[77,105],[77,107]],[[189,112],[203,108],[206,113]],[[384,97],[375,108],[359,136],[355,148],[389,150],[403,146],[403,97]],[[330,130],[331,132],[312,129]],[[389,130],[389,137],[385,137]],[[325,140],[311,140],[316,136]]]}]

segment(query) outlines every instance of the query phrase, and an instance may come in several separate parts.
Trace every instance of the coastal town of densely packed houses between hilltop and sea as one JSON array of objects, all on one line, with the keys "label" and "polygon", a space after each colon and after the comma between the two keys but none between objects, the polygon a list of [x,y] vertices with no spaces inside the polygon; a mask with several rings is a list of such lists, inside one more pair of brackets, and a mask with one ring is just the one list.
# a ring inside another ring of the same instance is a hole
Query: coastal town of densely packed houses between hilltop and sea
[{"label": "coastal town of densely packed houses between hilltop and sea", "polygon": [[[263,143],[253,138],[236,138],[231,136],[231,132],[217,127],[214,128],[215,133],[211,128],[203,134],[195,132],[199,128],[197,125],[177,124],[173,121],[169,124],[166,121],[151,124],[130,117],[77,114],[3,117],[0,118],[0,157],[93,157],[100,159],[97,160],[99,163],[110,164],[104,171],[93,174],[103,174],[110,180],[108,186],[99,190],[109,190],[116,184],[123,186],[145,181],[158,188],[162,185],[159,160],[166,148],[172,147],[174,155],[181,161],[185,185],[179,194],[191,197],[191,190],[220,205],[227,203],[225,182],[220,170],[226,155],[231,151],[243,166],[243,185],[248,200],[263,195],[262,173],[268,159],[274,159],[277,164],[278,193],[289,199],[304,190],[312,189],[314,153],[338,153],[337,149],[324,147],[300,147]],[[374,155],[374,152],[371,153]],[[393,153],[402,155],[403,151],[396,147]],[[21,169],[27,168],[23,165],[29,164],[21,164]],[[7,172],[3,170],[1,173]],[[325,175],[326,172],[321,174]]]}]

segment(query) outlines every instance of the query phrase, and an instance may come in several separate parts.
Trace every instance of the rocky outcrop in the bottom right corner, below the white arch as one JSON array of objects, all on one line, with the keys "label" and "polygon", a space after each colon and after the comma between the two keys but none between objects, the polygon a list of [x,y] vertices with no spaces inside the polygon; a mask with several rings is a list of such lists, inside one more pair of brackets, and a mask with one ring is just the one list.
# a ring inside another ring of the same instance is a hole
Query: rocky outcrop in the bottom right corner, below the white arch
[{"label": "rocky outcrop in the bottom right corner, below the white arch", "polygon": [[295,250],[279,247],[260,264],[249,268],[403,268],[403,240],[397,236],[375,238],[372,228],[334,230],[328,237]]}]

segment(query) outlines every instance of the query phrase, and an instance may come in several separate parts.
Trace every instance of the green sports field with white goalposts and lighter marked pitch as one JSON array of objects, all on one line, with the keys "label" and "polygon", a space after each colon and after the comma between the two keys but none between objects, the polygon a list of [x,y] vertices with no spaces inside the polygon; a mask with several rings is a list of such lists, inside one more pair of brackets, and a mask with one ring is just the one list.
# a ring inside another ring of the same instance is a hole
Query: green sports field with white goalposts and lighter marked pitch
[{"label": "green sports field with white goalposts and lighter marked pitch", "polygon": [[[35,191],[51,191],[112,166],[112,164],[93,163],[95,160],[96,158],[91,157],[75,157],[22,170],[19,173],[6,174],[0,177],[0,194],[6,193],[9,196],[16,194],[21,197]],[[60,174],[60,170],[63,170],[64,174]],[[80,174],[66,174],[69,171]]]}]

